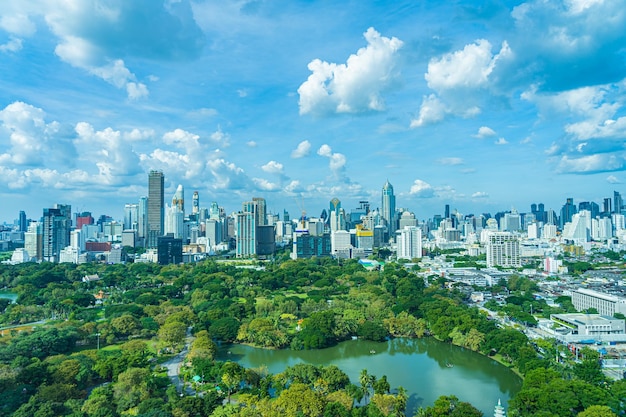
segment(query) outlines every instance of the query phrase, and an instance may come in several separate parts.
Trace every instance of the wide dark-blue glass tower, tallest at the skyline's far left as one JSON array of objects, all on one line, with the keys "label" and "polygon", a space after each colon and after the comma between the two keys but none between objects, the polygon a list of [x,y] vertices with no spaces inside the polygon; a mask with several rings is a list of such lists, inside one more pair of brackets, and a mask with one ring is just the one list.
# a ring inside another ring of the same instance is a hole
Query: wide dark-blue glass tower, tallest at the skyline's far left
[{"label": "wide dark-blue glass tower, tallest at the skyline's far left", "polygon": [[42,259],[59,262],[61,251],[70,245],[72,209],[69,205],[57,204],[43,209]]}]

